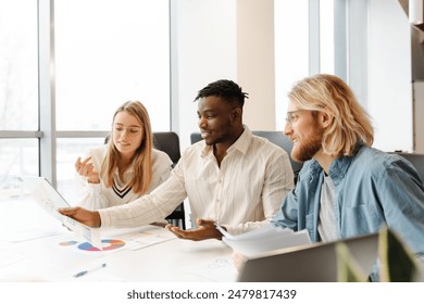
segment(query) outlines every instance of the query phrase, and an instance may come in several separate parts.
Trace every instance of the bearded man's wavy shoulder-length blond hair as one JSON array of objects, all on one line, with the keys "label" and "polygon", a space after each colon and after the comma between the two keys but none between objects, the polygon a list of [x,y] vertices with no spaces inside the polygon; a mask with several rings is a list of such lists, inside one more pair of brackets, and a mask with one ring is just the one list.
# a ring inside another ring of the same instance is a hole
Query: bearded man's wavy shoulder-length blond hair
[{"label": "bearded man's wavy shoulder-length blond hair", "polygon": [[299,109],[324,112],[333,122],[323,134],[323,151],[332,156],[352,155],[359,141],[371,147],[374,129],[371,118],[339,77],[317,74],[295,84],[289,100]]}]

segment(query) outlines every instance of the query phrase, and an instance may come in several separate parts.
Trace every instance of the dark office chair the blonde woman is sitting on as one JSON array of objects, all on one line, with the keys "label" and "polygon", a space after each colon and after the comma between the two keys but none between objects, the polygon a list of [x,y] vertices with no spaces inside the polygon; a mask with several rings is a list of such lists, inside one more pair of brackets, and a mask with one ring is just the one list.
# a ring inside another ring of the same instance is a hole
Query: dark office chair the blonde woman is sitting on
[{"label": "dark office chair the blonde woman is sitting on", "polygon": [[[165,152],[171,161],[173,167],[179,161],[179,138],[176,132],[153,132],[153,145],[155,149]],[[179,226],[186,229],[186,213],[184,210],[184,202],[182,202],[165,219],[174,226]]]}]

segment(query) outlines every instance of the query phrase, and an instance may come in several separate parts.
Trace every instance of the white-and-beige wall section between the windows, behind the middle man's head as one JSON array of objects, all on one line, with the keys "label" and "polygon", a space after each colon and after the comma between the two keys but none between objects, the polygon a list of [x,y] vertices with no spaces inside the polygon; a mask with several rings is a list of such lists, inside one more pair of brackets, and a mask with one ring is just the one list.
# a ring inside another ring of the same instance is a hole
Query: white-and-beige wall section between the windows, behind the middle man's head
[{"label": "white-and-beige wall section between the windows, behind the middle man's head", "polygon": [[275,128],[273,0],[178,0],[174,47],[177,113],[173,129],[182,149],[198,131],[198,90],[217,79],[249,92],[244,122],[250,129]]}]

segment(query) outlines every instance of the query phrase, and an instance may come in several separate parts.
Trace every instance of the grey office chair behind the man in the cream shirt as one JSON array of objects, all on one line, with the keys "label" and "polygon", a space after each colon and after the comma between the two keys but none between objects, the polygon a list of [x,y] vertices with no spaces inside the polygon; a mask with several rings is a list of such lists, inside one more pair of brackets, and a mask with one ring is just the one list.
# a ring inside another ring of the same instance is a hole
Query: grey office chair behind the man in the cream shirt
[{"label": "grey office chair behind the man in the cream shirt", "polygon": [[[285,135],[283,135],[282,131],[252,131],[252,134],[255,136],[266,138],[272,143],[283,148],[288,153],[288,155],[290,157],[291,168],[292,168],[292,172],[295,174],[295,185],[296,185],[299,172],[302,168],[303,163],[296,162],[295,160],[291,159],[291,156],[290,156],[291,149],[292,149],[291,140],[288,137],[286,137]],[[202,140],[202,137],[201,137],[200,132],[192,132],[190,135],[190,140],[191,140],[191,144],[192,144],[195,142]]]}]

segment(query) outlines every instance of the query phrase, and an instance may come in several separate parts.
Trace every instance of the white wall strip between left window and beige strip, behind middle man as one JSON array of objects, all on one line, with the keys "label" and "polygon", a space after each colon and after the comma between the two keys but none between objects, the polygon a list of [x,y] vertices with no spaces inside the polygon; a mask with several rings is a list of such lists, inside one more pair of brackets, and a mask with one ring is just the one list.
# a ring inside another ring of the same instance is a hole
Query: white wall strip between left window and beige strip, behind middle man
[{"label": "white wall strip between left window and beige strip, behind middle man", "polygon": [[221,78],[237,80],[236,0],[178,0],[176,79],[182,149],[198,131],[197,92]]}]

